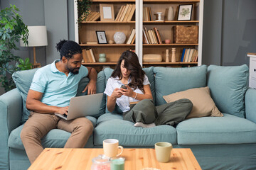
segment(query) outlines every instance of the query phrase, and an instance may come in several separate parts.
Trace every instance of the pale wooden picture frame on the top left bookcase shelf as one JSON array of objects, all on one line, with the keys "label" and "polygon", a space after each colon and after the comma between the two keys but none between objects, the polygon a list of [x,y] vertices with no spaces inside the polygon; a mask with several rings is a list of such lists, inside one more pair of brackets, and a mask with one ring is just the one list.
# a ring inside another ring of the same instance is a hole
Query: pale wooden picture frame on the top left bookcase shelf
[{"label": "pale wooden picture frame on the top left bookcase shelf", "polygon": [[114,21],[113,4],[100,4],[100,21]]}]

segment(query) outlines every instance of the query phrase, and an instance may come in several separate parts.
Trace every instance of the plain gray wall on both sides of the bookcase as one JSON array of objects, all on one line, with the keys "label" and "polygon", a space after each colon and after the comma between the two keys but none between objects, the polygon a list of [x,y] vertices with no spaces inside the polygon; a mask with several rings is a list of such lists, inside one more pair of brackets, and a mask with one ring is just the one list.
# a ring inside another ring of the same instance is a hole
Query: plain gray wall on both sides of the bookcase
[{"label": "plain gray wall on both sides of the bookcase", "polygon": [[[55,44],[62,39],[75,40],[73,0],[1,0],[1,7],[15,4],[28,26],[46,26],[48,46],[36,47],[42,66],[59,58]],[[255,0],[204,0],[203,64],[248,64],[247,52],[256,52]],[[32,47],[15,52],[33,62]],[[0,88],[0,94],[3,94]]]}]

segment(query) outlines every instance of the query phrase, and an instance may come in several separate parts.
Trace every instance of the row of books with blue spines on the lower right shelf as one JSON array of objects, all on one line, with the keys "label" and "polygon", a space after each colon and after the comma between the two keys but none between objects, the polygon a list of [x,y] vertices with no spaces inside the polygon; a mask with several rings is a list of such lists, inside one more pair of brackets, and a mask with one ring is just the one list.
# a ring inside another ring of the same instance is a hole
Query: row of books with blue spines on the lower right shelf
[{"label": "row of books with blue spines on the lower right shelf", "polygon": [[183,48],[181,62],[197,62],[198,50],[193,48]]}]

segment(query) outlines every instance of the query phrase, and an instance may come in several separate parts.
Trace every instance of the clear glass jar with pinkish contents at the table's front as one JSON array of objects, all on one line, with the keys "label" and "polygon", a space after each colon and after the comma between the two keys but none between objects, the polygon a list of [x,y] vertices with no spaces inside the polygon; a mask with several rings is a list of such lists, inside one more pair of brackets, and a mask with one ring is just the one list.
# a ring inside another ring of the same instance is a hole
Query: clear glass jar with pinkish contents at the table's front
[{"label": "clear glass jar with pinkish contents at the table's front", "polygon": [[110,158],[103,154],[92,159],[91,170],[110,170]]}]

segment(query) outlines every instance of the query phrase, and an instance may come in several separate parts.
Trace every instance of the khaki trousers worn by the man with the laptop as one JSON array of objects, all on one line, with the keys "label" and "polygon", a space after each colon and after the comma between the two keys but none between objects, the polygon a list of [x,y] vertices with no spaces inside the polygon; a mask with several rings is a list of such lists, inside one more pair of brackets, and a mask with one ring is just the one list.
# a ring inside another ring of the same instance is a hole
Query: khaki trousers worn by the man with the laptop
[{"label": "khaki trousers worn by the man with the laptop", "polygon": [[31,112],[21,130],[21,140],[31,164],[43,151],[41,138],[56,128],[71,133],[65,148],[83,148],[92,134],[93,125],[87,118],[64,120],[54,114]]}]

